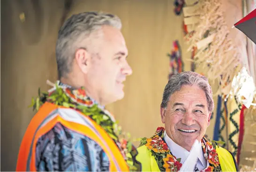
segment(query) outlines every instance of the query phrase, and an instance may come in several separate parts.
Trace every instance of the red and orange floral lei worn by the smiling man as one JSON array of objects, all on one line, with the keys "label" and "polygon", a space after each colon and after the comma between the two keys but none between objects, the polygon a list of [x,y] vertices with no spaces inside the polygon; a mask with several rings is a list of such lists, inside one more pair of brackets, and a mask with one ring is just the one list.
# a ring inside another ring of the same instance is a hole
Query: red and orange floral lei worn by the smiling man
[{"label": "red and orange floral lei worn by the smiling man", "polygon": [[[165,128],[158,127],[156,133],[151,138],[144,137],[141,144],[151,150],[155,157],[158,167],[161,172],[178,172],[181,169],[181,158],[176,158],[168,148],[164,137]],[[220,172],[221,167],[216,152],[216,141],[211,143],[206,137],[201,140],[204,158],[207,162],[207,167],[201,172]],[[217,144],[218,145],[218,144]]]}]

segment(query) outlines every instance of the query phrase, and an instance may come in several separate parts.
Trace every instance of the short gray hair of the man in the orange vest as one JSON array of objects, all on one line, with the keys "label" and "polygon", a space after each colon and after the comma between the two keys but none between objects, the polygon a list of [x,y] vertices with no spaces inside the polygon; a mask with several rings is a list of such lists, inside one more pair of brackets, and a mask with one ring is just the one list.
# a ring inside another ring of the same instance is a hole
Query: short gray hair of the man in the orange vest
[{"label": "short gray hair of the man in the orange vest", "polygon": [[71,70],[75,51],[78,48],[88,49],[90,41],[84,43],[92,33],[103,25],[121,29],[120,18],[102,12],[85,12],[72,15],[60,28],[56,43],[56,61],[59,79]]}]

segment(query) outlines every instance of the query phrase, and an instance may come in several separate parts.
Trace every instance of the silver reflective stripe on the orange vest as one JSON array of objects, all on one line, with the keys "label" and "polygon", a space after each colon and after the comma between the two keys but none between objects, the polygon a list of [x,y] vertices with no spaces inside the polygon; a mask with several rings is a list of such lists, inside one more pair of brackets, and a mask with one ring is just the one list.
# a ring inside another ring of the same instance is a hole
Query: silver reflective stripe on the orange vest
[{"label": "silver reflective stripe on the orange vest", "polygon": [[60,116],[65,121],[75,122],[75,123],[78,123],[78,124],[81,124],[83,126],[90,128],[93,131],[93,133],[96,134],[96,136],[98,136],[101,139],[101,141],[106,145],[105,147],[109,151],[110,155],[112,156],[113,163],[114,163],[115,167],[117,168],[117,171],[121,171],[120,166],[119,166],[116,158],[113,155],[113,152],[109,148],[108,144],[105,142],[105,139],[103,139],[103,137],[99,134],[99,132],[97,131],[97,129],[95,128],[93,123],[83,114],[77,112],[74,109],[69,109],[69,108],[58,108],[58,109],[53,110],[53,112],[51,112],[45,118],[45,120],[43,122],[41,122],[40,125],[38,125],[38,128],[36,129],[36,131],[33,135],[33,139],[32,139],[31,146],[30,146],[29,156],[28,156],[28,160],[27,160],[27,168],[26,168],[27,171],[30,171],[30,162],[31,162],[33,143],[35,141],[34,139],[35,139],[35,136],[36,136],[38,130],[40,128],[42,128],[43,126],[45,126],[48,122],[53,120],[53,118],[55,118],[56,116]]}]

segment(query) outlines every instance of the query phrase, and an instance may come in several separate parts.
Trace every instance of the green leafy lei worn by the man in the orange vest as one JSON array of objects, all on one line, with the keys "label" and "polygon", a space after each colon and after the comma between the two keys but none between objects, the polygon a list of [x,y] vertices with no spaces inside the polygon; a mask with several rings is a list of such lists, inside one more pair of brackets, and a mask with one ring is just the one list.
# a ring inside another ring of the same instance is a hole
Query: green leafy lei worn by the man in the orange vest
[{"label": "green leafy lei worn by the man in the orange vest", "polygon": [[[45,103],[50,102],[59,106],[72,108],[89,116],[90,119],[100,125],[106,133],[113,139],[124,159],[131,163],[127,163],[130,171],[141,171],[141,164],[136,160],[137,151],[130,142],[130,136],[122,133],[121,127],[114,122],[112,115],[105,109],[100,108],[95,100],[86,95],[84,87],[79,89],[71,88],[68,85],[60,85],[57,81],[55,86],[48,92],[41,92],[38,89],[38,97],[32,98],[30,107],[37,110]],[[128,137],[128,139],[126,139]],[[128,158],[126,154],[130,153],[132,158]]]}]

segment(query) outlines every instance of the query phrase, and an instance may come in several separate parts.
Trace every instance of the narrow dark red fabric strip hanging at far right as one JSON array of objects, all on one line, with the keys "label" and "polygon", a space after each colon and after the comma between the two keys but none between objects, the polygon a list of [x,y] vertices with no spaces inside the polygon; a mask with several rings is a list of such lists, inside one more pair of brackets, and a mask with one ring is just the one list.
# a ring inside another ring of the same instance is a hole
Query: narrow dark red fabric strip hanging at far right
[{"label": "narrow dark red fabric strip hanging at far right", "polygon": [[241,146],[243,142],[243,135],[244,135],[244,109],[246,107],[242,105],[241,113],[240,113],[240,132],[238,137],[238,146],[237,146],[237,165],[239,165],[240,161],[240,153],[241,153]]}]

